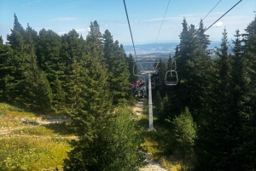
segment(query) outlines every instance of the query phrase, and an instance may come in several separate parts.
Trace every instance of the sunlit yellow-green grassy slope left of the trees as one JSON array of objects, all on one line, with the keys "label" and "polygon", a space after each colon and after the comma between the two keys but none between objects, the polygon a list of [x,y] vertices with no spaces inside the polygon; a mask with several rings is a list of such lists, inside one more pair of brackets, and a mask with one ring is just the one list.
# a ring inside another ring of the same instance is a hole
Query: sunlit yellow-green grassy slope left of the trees
[{"label": "sunlit yellow-green grassy slope left of the trees", "polygon": [[[56,116],[63,117],[44,118]],[[72,138],[67,123],[45,124],[41,116],[0,103],[0,170],[61,168]]]}]

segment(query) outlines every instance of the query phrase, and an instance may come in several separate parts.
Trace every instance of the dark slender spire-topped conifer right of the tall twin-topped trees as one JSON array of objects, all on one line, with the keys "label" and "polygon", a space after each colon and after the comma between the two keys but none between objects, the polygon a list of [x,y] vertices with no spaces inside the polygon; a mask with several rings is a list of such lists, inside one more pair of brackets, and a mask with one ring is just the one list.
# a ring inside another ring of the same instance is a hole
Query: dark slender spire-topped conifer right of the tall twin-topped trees
[{"label": "dark slender spire-topped conifer right of the tall twin-topped trees", "polygon": [[[196,170],[207,168],[216,170],[241,170],[234,151],[239,146],[239,133],[242,130],[242,115],[237,111],[236,90],[232,90],[232,71],[228,54],[227,32],[224,29],[219,58],[212,75],[211,92],[208,95],[209,108],[204,117],[196,140]],[[238,48],[239,44],[236,44]],[[237,53],[236,53],[237,54]],[[239,58],[239,56],[237,56]],[[239,59],[237,59],[239,60]],[[237,64],[236,65],[240,65]],[[234,67],[234,81],[236,74]],[[242,74],[242,73],[241,73]],[[240,80],[239,82],[242,82]],[[235,82],[233,82],[235,83]],[[241,96],[237,96],[241,98]],[[236,103],[236,105],[235,105]]]}]

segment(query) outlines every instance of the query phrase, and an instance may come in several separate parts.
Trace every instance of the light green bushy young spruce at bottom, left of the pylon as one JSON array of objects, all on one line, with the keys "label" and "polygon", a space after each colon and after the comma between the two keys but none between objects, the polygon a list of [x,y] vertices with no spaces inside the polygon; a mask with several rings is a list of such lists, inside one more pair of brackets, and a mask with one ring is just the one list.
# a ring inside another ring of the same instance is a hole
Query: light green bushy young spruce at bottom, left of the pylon
[{"label": "light green bushy young spruce at bottom, left of the pylon", "polygon": [[119,109],[103,130],[98,170],[138,170],[143,166],[144,142],[131,111]]}]

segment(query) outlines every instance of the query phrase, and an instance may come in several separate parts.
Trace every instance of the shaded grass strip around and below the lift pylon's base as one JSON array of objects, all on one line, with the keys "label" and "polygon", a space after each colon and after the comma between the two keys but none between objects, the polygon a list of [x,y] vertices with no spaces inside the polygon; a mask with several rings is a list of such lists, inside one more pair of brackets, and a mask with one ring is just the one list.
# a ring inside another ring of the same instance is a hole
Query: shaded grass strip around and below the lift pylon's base
[{"label": "shaded grass strip around and below the lift pylon's base", "polygon": [[148,105],[143,107],[143,116],[138,119],[138,125],[144,129],[143,144],[148,153],[151,154],[151,160],[160,162],[161,165],[169,171],[178,171],[184,168],[184,161],[173,155],[172,147],[172,123],[168,120],[160,121],[157,118],[158,112],[154,111],[154,131],[148,132]]}]

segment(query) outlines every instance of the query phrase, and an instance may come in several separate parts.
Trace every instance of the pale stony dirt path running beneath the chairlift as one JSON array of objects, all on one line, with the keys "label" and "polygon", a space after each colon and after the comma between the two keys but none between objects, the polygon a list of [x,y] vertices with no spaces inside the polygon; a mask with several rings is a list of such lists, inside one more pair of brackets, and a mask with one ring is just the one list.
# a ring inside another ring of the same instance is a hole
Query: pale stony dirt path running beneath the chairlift
[{"label": "pale stony dirt path running beneath the chairlift", "polygon": [[[133,112],[137,114],[137,116],[143,115],[143,106],[148,104],[147,99],[140,99],[137,102],[137,105],[132,109]],[[150,160],[150,154],[146,154],[146,161],[148,162],[147,166],[144,168],[140,168],[140,171],[166,171],[165,168],[162,168],[159,163]]]}]

